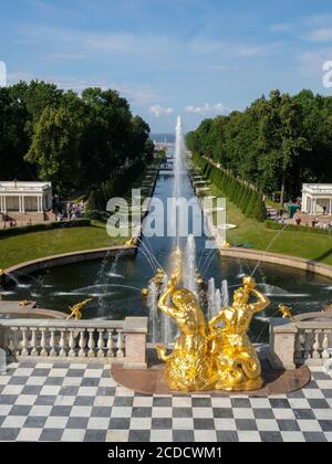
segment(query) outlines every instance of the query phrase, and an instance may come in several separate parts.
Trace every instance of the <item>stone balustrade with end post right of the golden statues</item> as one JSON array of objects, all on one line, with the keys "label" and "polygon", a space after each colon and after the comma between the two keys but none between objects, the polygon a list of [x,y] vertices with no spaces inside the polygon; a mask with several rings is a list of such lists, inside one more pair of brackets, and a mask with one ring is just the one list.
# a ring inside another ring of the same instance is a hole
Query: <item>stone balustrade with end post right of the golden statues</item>
[{"label": "stone balustrade with end post right of the golden statues", "polygon": [[332,309],[270,319],[269,359],[277,369],[318,365],[332,358]]}]

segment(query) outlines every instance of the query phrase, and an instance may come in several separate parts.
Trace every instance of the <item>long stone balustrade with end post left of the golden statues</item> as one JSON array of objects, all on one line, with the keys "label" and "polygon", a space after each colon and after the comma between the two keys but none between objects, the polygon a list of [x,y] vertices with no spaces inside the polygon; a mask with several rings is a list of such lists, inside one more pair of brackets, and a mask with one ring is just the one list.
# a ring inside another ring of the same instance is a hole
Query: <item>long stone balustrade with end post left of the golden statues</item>
[{"label": "long stone balustrade with end post left of the golden statues", "polygon": [[15,360],[120,362],[146,367],[147,318],[0,320],[0,347]]}]

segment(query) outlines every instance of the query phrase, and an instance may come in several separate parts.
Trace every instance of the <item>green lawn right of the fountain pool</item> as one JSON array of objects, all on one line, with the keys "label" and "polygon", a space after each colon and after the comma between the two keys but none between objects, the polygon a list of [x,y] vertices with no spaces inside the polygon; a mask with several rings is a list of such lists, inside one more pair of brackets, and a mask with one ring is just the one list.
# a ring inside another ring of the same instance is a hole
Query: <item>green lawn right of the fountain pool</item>
[{"label": "green lawn right of the fountain pool", "polygon": [[[211,186],[211,192],[216,197],[222,197],[215,186]],[[332,236],[268,230],[262,222],[247,219],[229,200],[227,200],[227,222],[238,225],[238,229],[227,233],[227,240],[231,244],[250,243],[256,250],[304,257],[332,265]]]}]

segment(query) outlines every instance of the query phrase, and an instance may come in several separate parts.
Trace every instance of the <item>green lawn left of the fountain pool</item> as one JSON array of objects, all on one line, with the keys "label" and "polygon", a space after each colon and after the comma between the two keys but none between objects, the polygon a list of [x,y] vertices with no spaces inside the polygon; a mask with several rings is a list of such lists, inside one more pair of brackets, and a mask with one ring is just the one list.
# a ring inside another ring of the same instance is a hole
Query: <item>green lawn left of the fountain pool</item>
[{"label": "green lawn left of the fountain pool", "polygon": [[92,226],[30,232],[0,239],[0,268],[24,261],[81,250],[121,245],[127,239],[111,239],[106,225],[92,221]]}]

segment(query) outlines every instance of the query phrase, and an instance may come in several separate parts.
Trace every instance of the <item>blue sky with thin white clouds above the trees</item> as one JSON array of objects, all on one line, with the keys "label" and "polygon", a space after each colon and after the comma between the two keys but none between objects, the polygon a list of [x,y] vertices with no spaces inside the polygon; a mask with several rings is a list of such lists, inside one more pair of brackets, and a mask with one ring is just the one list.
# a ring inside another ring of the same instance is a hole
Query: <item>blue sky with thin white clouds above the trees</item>
[{"label": "blue sky with thin white clouds above the trees", "polygon": [[332,95],[331,0],[0,0],[8,83],[111,87],[153,133],[186,130],[262,94]]}]

